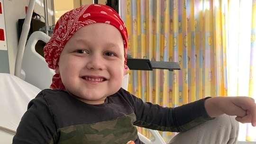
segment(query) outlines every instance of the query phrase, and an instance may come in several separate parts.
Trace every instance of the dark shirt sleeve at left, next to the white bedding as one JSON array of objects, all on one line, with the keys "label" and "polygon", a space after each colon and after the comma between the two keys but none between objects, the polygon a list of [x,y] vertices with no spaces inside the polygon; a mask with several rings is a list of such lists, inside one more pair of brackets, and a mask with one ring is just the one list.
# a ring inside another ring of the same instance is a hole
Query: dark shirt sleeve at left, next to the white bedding
[{"label": "dark shirt sleeve at left, next to the white bedding", "polygon": [[42,93],[39,93],[35,99],[29,102],[12,144],[50,144],[55,133],[54,119],[46,99]]}]

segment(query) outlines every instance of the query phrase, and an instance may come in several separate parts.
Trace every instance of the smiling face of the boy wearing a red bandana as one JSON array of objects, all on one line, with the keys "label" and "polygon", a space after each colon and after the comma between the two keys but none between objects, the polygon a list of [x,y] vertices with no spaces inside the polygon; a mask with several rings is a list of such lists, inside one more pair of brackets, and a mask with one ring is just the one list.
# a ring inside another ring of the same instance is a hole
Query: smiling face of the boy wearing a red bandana
[{"label": "smiling face of the boy wearing a red bandana", "polygon": [[71,95],[88,104],[102,104],[121,88],[124,60],[119,30],[95,23],[80,28],[69,39],[55,72]]}]

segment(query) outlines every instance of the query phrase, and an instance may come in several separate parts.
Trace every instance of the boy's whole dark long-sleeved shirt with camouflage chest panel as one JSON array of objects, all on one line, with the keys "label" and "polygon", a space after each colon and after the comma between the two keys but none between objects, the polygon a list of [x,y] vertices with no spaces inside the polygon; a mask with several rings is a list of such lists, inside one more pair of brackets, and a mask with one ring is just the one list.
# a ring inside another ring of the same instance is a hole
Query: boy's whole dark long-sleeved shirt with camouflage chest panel
[{"label": "boy's whole dark long-sleeved shirt with camouflage chest panel", "polygon": [[209,119],[204,99],[164,108],[120,89],[105,103],[90,105],[48,89],[29,102],[13,144],[143,144],[135,126],[181,132]]}]

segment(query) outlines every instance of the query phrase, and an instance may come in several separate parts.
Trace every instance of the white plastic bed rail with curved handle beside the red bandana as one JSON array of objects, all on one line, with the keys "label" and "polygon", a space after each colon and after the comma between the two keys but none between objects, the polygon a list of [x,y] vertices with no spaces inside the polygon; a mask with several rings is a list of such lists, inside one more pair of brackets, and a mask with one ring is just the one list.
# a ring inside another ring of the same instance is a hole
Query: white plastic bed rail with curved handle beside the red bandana
[{"label": "white plastic bed rail with curved handle beside the red bandana", "polygon": [[49,39],[50,36],[44,32],[33,32],[27,41],[21,64],[21,69],[25,72],[24,81],[41,90],[49,89],[55,72],[48,67],[45,58],[37,53],[35,47],[39,40],[46,43]]}]

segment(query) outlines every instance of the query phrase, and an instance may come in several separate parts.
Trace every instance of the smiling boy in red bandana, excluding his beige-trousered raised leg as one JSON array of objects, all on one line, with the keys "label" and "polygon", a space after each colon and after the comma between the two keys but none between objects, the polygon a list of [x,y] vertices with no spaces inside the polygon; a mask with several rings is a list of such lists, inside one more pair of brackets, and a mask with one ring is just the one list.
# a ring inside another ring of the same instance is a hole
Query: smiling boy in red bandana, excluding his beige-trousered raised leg
[{"label": "smiling boy in red bandana, excluding his beige-trousered raised leg", "polygon": [[29,102],[13,144],[143,144],[135,126],[185,132],[223,114],[256,126],[248,97],[208,97],[177,108],[143,102],[121,88],[126,49],[126,27],[108,6],[84,5],[59,18],[44,48],[56,72],[52,89]]}]

